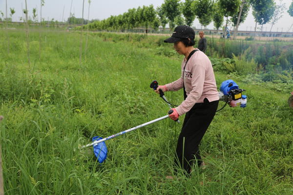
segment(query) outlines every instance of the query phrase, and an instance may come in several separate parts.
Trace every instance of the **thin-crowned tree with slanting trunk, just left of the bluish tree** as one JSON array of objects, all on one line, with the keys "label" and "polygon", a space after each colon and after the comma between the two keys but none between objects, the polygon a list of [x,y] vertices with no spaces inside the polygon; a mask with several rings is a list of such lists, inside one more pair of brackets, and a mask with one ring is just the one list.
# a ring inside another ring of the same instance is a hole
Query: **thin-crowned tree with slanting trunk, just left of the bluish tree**
[{"label": "thin-crowned tree with slanting trunk, just left of the bluish tree", "polygon": [[232,16],[231,20],[234,24],[234,29],[235,29],[233,39],[236,39],[238,26],[240,23],[242,23],[246,19],[249,9],[250,9],[250,4],[246,2],[246,0],[242,0],[239,12],[235,14],[234,16]]}]

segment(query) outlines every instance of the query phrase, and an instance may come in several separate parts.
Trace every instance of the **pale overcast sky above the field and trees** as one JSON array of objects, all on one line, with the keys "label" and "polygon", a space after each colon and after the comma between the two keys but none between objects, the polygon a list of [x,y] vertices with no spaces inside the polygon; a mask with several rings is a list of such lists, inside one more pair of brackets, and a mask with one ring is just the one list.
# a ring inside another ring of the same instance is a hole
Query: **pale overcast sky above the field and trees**
[{"label": "pale overcast sky above the field and trees", "polygon": [[[32,9],[37,8],[38,18],[40,18],[40,1],[41,0],[27,0],[27,7],[29,15],[32,15]],[[75,14],[75,17],[82,18],[83,0],[44,0],[45,5],[42,7],[42,18],[45,20],[66,20],[69,17],[70,8],[71,12]],[[183,1],[183,0],[182,0]],[[71,7],[72,2],[72,7]],[[279,4],[280,0],[275,0]],[[286,10],[283,13],[283,17],[275,24],[272,31],[283,31],[287,32],[293,23],[293,17],[290,17],[287,10],[291,4],[292,0],[283,0],[286,4]],[[156,8],[164,3],[164,0],[91,0],[89,20],[92,19],[106,19],[111,15],[116,16],[127,12],[129,8],[137,8],[138,6],[153,4]],[[14,8],[16,13],[13,15],[13,21],[19,21],[23,17],[22,9],[25,9],[25,0],[7,0],[8,15],[10,13],[9,8]],[[64,14],[63,14],[64,9]],[[0,11],[4,13],[5,16],[5,0],[0,0]],[[84,0],[84,19],[88,17],[88,0]],[[193,27],[199,28],[200,24],[198,20],[194,20]],[[255,22],[253,16],[250,13],[245,20],[239,26],[240,30],[253,30]],[[209,29],[213,29],[213,23],[208,25]],[[270,30],[271,25],[264,25],[263,30]],[[293,28],[290,30],[293,31]]]}]

